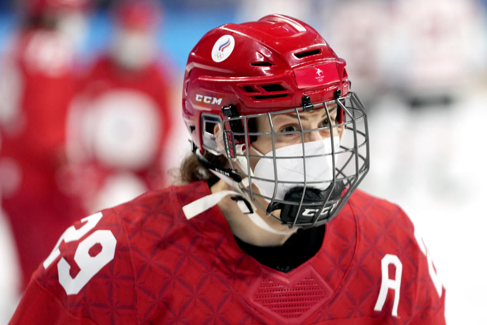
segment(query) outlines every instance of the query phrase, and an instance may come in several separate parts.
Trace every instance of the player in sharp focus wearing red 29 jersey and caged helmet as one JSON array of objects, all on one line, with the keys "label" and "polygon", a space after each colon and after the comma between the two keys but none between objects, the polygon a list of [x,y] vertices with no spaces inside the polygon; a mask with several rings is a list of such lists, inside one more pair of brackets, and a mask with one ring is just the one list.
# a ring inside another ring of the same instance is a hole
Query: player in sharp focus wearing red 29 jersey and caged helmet
[{"label": "player in sharp focus wearing red 29 jersey and caged helmet", "polygon": [[356,189],[369,143],[349,88],[299,20],[209,31],[184,78],[187,184],[68,228],[12,323],[444,324],[412,223]]}]

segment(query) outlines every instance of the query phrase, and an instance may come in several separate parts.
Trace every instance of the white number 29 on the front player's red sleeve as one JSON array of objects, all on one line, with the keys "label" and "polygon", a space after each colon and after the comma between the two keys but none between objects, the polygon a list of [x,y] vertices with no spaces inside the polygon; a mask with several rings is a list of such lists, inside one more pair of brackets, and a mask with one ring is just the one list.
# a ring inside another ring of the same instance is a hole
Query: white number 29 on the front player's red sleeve
[{"label": "white number 29 on the front player's red sleeve", "polygon": [[[47,269],[61,254],[59,245],[63,240],[66,243],[79,240],[95,227],[102,216],[101,212],[97,212],[81,219],[82,222],[86,221],[86,223],[83,224],[80,229],[75,229],[73,225],[66,229],[57,241],[52,252],[46,258],[46,261],[44,261],[44,268]],[[101,251],[97,255],[91,256],[89,250],[95,244],[101,245]],[[74,259],[80,268],[80,272],[74,278],[69,274],[71,266],[69,266],[64,257],[61,257],[57,263],[57,272],[59,283],[64,290],[66,290],[67,295],[78,294],[86,283],[88,283],[88,281],[101,270],[101,268],[112,261],[115,255],[116,244],[117,240],[109,230],[97,230],[86,237],[79,243],[78,248],[76,248]]]}]

